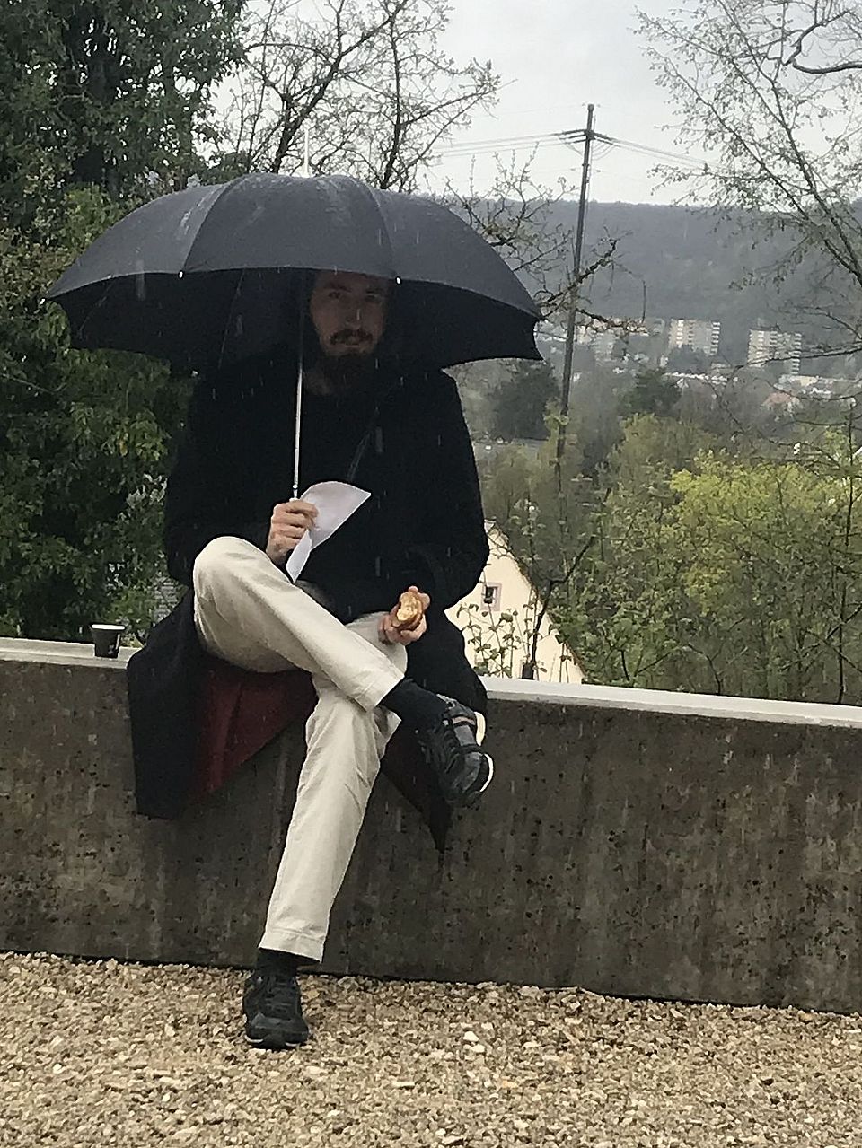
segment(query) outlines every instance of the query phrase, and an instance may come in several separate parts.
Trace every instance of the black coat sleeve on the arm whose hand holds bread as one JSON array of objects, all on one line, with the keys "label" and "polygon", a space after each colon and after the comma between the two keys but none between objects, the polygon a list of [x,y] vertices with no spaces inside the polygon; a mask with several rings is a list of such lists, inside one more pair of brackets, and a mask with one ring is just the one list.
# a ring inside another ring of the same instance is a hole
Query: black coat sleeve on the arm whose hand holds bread
[{"label": "black coat sleeve on the arm whose hand holds bread", "polygon": [[458,388],[446,374],[428,380],[429,470],[419,541],[409,546],[402,590],[418,585],[432,610],[455,606],[488,561],[488,535],[473,444]]}]

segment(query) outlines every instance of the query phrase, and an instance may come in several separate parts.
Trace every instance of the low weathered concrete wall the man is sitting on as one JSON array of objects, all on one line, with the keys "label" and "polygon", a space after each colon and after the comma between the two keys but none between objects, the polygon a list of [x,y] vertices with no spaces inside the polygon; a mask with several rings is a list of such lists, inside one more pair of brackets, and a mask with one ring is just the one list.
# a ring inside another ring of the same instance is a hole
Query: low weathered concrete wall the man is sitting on
[{"label": "low weathered concrete wall the man is sitting on", "polygon": [[[0,948],[249,963],[298,731],[149,822],[123,661],[73,652],[0,643]],[[807,711],[495,683],[484,804],[440,864],[379,783],[325,968],[862,1009],[862,711]]]}]

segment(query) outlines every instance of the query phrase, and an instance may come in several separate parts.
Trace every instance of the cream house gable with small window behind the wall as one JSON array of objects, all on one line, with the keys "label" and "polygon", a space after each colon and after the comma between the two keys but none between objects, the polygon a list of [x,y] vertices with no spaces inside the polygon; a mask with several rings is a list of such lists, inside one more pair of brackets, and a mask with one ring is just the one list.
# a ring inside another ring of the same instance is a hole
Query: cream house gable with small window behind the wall
[{"label": "cream house gable with small window behind the wall", "polygon": [[489,677],[535,677],[542,682],[580,684],[583,673],[574,653],[559,638],[545,615],[538,623],[535,673],[530,654],[542,608],[505,536],[487,522],[490,557],[479,585],[446,615],[464,631],[467,658]]}]

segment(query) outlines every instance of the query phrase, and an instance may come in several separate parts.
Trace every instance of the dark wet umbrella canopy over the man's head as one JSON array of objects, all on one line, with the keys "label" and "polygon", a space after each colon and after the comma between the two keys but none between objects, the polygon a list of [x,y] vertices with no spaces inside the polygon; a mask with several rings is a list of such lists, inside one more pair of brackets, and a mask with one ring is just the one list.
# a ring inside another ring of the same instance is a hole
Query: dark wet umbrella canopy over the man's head
[{"label": "dark wet umbrella canopy over the man's head", "polygon": [[304,271],[397,284],[401,360],[539,358],[538,311],[497,253],[446,208],[347,176],[243,176],[132,211],[47,294],[72,344],[207,370],[295,341]]}]

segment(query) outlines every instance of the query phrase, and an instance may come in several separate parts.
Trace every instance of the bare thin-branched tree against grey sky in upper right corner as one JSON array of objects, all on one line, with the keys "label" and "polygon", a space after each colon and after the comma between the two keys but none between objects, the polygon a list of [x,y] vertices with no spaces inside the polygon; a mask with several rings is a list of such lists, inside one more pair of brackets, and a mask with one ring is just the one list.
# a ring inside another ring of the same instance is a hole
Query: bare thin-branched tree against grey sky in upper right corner
[{"label": "bare thin-branched tree against grey sky in upper right corner", "polygon": [[805,261],[821,305],[824,287],[831,295],[841,351],[861,347],[862,5],[699,0],[666,18],[640,14],[640,28],[682,114],[677,142],[716,157],[668,178],[783,232],[790,250],[775,278]]}]

